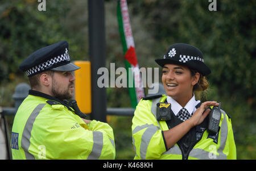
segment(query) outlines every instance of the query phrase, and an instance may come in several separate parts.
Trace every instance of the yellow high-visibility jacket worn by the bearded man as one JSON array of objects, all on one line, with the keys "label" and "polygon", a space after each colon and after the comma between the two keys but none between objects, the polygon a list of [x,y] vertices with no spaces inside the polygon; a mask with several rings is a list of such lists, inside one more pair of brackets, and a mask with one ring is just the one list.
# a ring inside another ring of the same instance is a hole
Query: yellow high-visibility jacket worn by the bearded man
[{"label": "yellow high-visibility jacket worn by the bearded man", "polygon": [[16,112],[11,133],[13,159],[115,159],[113,130],[86,124],[60,103],[28,95]]}]

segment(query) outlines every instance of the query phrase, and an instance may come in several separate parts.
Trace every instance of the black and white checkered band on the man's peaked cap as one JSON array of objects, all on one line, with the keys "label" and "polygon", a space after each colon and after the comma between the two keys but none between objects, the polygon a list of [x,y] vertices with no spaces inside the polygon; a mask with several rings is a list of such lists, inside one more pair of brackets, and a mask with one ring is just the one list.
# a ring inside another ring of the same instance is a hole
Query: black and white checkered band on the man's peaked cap
[{"label": "black and white checkered band on the man's peaked cap", "polygon": [[47,60],[46,62],[43,62],[42,64],[33,66],[32,68],[26,70],[26,74],[28,77],[35,75],[36,73],[42,72],[44,69],[49,68],[53,65],[56,65],[63,61],[70,61],[70,57],[68,55],[68,49],[66,48],[66,51],[63,55],[53,57],[52,59]]}]

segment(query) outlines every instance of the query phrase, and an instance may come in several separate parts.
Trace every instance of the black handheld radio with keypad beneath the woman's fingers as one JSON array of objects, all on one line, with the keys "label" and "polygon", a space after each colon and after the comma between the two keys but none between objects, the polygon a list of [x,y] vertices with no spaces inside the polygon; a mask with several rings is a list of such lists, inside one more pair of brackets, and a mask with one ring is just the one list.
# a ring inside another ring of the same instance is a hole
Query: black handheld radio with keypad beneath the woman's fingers
[{"label": "black handheld radio with keypad beneath the woman's fingers", "polygon": [[220,105],[218,105],[218,107],[213,106],[209,114],[208,131],[212,134],[217,134],[218,124],[220,124],[220,120],[221,120],[221,110],[220,110],[221,103],[219,104]]}]

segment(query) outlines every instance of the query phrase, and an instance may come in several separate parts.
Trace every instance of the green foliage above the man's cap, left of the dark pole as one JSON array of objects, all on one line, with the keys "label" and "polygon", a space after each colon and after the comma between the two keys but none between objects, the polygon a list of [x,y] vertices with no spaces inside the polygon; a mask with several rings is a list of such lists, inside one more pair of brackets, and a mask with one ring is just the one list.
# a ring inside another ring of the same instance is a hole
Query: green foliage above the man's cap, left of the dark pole
[{"label": "green foliage above the man's cap, left of the dark pole", "polygon": [[[74,23],[65,23],[65,19],[71,19],[69,16],[73,12],[70,9],[71,2],[60,0],[47,2],[46,11],[38,11],[38,5],[36,1],[4,1],[1,4],[1,80],[8,80],[10,73],[18,74],[20,62],[35,49],[60,40],[71,43],[69,48],[73,50],[71,51],[71,56],[75,56],[73,59],[83,59],[81,48],[85,47],[84,41],[80,35],[73,36],[68,30],[74,27]],[[77,25],[76,29],[79,29],[80,25]],[[73,41],[79,42],[80,45],[72,44]]]}]

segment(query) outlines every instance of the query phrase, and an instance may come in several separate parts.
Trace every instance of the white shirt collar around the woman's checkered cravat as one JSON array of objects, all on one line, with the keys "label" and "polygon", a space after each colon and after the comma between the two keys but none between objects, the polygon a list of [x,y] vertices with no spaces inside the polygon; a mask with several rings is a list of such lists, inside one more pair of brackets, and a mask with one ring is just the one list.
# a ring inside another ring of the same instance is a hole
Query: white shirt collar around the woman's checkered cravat
[{"label": "white shirt collar around the woman's checkered cravat", "polygon": [[[171,109],[175,115],[182,109],[182,106],[170,96],[167,96],[167,102],[171,103]],[[184,108],[188,110],[189,114],[192,114],[196,111],[196,105],[198,103],[200,103],[200,101],[196,101],[195,94],[193,94],[193,97],[188,101]]]}]

